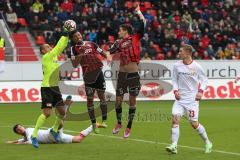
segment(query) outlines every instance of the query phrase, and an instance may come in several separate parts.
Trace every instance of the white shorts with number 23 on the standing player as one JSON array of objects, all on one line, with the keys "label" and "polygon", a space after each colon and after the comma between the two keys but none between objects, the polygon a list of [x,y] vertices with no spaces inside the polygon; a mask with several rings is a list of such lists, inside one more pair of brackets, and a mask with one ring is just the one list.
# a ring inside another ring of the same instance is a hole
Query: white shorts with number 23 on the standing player
[{"label": "white shorts with number 23 on the standing player", "polygon": [[199,101],[179,103],[175,101],[172,108],[172,115],[186,115],[189,121],[198,121]]}]

